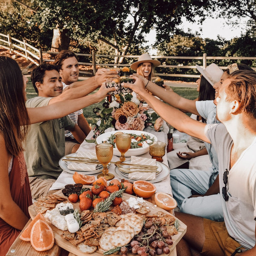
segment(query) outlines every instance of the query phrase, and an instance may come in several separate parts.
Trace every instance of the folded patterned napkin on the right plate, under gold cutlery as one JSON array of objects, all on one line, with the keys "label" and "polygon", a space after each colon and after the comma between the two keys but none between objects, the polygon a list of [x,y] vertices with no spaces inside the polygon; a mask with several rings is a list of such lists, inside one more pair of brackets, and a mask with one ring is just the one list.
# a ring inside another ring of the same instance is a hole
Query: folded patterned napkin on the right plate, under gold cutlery
[{"label": "folded patterned napkin on the right plate, under gold cutlery", "polygon": [[[131,163],[136,165],[150,165],[150,166],[156,166],[156,159],[152,158],[144,158],[144,157],[135,157],[131,156]],[[136,169],[132,169],[133,171],[136,171]],[[138,172],[132,172],[129,173],[128,178],[130,180],[155,180],[155,174],[154,172],[140,172],[140,169],[137,169]]]}]

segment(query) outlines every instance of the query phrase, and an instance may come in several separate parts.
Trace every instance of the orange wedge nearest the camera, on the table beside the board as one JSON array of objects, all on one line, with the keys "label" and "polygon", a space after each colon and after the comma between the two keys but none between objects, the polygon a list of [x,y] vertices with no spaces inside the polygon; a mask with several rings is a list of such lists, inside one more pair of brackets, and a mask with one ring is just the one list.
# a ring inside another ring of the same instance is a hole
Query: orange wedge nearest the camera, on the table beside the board
[{"label": "orange wedge nearest the camera, on the table beside the board", "polygon": [[39,219],[31,229],[30,242],[33,248],[39,252],[52,248],[54,236],[51,227]]}]

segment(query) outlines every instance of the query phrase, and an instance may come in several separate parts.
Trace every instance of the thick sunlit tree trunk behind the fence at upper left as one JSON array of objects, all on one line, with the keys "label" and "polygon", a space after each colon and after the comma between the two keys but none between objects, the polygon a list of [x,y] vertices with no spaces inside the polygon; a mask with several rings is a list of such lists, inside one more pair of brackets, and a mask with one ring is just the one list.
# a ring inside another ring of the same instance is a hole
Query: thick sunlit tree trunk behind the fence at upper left
[{"label": "thick sunlit tree trunk behind the fence at upper left", "polygon": [[57,26],[55,29],[53,29],[51,52],[60,52],[61,50],[68,50],[70,39],[67,35],[67,32],[68,31],[66,29],[61,31]]}]

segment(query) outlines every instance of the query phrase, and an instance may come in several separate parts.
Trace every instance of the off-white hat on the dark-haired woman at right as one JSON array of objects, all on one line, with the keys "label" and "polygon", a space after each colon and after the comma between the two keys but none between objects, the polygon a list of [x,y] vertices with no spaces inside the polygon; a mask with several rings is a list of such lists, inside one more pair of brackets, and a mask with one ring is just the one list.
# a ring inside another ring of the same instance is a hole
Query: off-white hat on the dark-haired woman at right
[{"label": "off-white hat on the dark-haired woman at right", "polygon": [[212,86],[221,80],[223,70],[215,63],[210,64],[206,69],[203,69],[196,64],[196,68]]}]

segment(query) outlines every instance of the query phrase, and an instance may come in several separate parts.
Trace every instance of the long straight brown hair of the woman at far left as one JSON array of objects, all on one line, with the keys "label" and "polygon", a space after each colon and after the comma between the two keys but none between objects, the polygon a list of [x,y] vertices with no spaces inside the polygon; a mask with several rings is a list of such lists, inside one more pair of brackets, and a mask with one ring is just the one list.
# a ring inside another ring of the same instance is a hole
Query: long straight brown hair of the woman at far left
[{"label": "long straight brown hair of the woman at far left", "polygon": [[28,124],[22,72],[15,60],[0,56],[0,133],[10,154],[23,151]]}]

